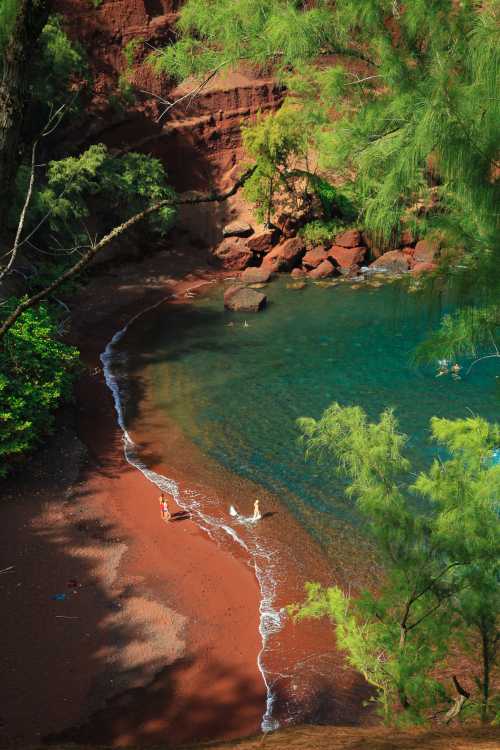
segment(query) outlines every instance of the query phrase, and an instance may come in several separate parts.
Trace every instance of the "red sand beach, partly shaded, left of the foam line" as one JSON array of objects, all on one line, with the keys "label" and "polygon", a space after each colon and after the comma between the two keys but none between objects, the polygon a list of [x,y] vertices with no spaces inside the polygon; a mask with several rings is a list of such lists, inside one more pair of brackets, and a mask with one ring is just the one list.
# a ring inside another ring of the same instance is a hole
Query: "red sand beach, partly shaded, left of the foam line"
[{"label": "red sand beach, partly shaded, left of the foam line", "polygon": [[[13,666],[0,690],[2,746],[44,738],[178,745],[260,729],[257,581],[193,522],[162,522],[157,488],[125,464],[111,394],[95,370],[103,344],[127,319],[216,276],[204,267],[192,273],[193,258],[169,276],[175,255],[149,258],[149,279],[146,262],[133,264],[120,270],[119,283],[106,274],[79,295],[71,338],[90,368],[76,409],[87,459],[59,478],[57,458],[42,451],[35,481],[25,472],[5,485],[1,513],[11,543],[2,561],[14,564],[14,575],[0,581],[13,605],[0,663]],[[70,441],[61,440],[54,450],[66,456]],[[54,442],[47,441],[49,453]],[[33,639],[35,623],[42,627]]]}]

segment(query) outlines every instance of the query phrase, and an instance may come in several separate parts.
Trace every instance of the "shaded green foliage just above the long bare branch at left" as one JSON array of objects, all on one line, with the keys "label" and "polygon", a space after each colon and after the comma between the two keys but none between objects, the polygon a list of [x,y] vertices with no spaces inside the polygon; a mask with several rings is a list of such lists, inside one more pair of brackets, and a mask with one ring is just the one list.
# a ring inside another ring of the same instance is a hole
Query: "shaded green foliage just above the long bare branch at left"
[{"label": "shaded green foliage just above the long bare branch at left", "polygon": [[[27,170],[21,170],[20,199],[25,194],[27,178]],[[60,239],[76,239],[86,244],[85,222],[91,214],[98,213],[107,229],[147,205],[173,195],[158,159],[133,152],[114,157],[106,146],[96,144],[81,156],[49,163],[46,183],[33,199],[30,222],[36,226],[48,214],[48,229]],[[174,216],[174,208],[163,208],[150,220],[150,226],[164,234]]]}]

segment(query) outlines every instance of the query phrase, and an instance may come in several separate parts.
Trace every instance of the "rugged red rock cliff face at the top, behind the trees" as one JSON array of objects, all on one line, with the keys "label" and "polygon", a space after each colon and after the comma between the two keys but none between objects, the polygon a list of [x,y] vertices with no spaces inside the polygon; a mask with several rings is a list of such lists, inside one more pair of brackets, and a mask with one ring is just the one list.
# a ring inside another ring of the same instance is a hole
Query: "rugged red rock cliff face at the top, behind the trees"
[{"label": "rugged red rock cliff face at the top, behind the trees", "polygon": [[[165,108],[158,97],[176,99],[190,87],[175,88],[144,60],[152,48],[173,40],[182,0],[93,1],[97,7],[92,0],[56,0],[68,33],[87,51],[95,80],[91,117],[71,134],[72,140],[81,147],[100,141],[157,156],[178,190],[223,182],[242,157],[241,122],[279,107],[282,91],[252,71],[220,75],[158,121]],[[127,70],[135,101],[123,108],[117,106],[116,93],[127,68],[123,49],[131,40],[141,42]]]}]

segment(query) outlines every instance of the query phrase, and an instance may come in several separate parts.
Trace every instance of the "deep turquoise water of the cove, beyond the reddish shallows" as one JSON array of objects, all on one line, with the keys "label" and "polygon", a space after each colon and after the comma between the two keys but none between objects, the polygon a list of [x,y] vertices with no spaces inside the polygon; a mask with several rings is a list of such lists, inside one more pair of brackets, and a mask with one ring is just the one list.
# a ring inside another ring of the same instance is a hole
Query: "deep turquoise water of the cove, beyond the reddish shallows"
[{"label": "deep turquoise water of the cove, beyond the reddish shallows", "polygon": [[[296,420],[319,417],[332,402],[359,404],[371,418],[393,407],[416,468],[436,448],[429,419],[471,412],[500,420],[498,363],[463,380],[411,364],[416,345],[453,305],[432,303],[399,284],[379,288],[274,282],[257,315],[228,313],[222,289],[165,310],[143,331],[154,401],[206,454],[279,496],[305,521],[304,508],[356,522],[335,477],[307,463]],[[248,327],[245,325],[245,321]]]}]

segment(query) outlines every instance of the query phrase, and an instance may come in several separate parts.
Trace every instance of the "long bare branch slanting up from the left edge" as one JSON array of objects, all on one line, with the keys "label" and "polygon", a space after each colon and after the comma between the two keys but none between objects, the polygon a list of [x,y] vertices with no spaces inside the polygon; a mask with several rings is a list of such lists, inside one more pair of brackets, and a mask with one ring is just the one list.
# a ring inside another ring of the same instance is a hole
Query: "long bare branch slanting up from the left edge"
[{"label": "long bare branch slanting up from the left edge", "polygon": [[191,195],[187,198],[165,198],[164,200],[158,201],[152,206],[144,209],[144,211],[140,211],[134,216],[131,216],[130,219],[127,219],[127,221],[123,222],[123,224],[114,227],[111,232],[108,232],[108,234],[106,234],[99,242],[93,243],[89,250],[87,250],[87,252],[82,255],[80,260],[77,261],[77,263],[75,263],[73,266],[71,266],[71,268],[68,268],[67,271],[61,274],[61,276],[58,276],[58,278],[55,279],[51,284],[46,286],[37,294],[34,294],[32,297],[29,297],[27,300],[16,307],[16,309],[6,318],[6,320],[0,327],[0,342],[2,342],[7,331],[12,328],[14,323],[23,314],[23,312],[26,312],[26,310],[29,310],[31,307],[34,307],[36,304],[38,304],[38,302],[46,299],[50,294],[52,294],[52,292],[54,292],[62,284],[64,284],[65,281],[68,281],[68,279],[80,273],[80,271],[82,271],[90,263],[90,261],[97,255],[98,252],[100,252],[104,247],[109,245],[110,242],[122,235],[131,227],[139,224],[139,222],[143,221],[143,219],[157,213],[166,206],[193,206],[200,203],[223,203],[238,192],[238,190],[252,176],[255,169],[255,167],[252,167],[251,169],[247,170],[231,188],[223,193],[209,193],[206,195],[195,193],[194,195]]}]

